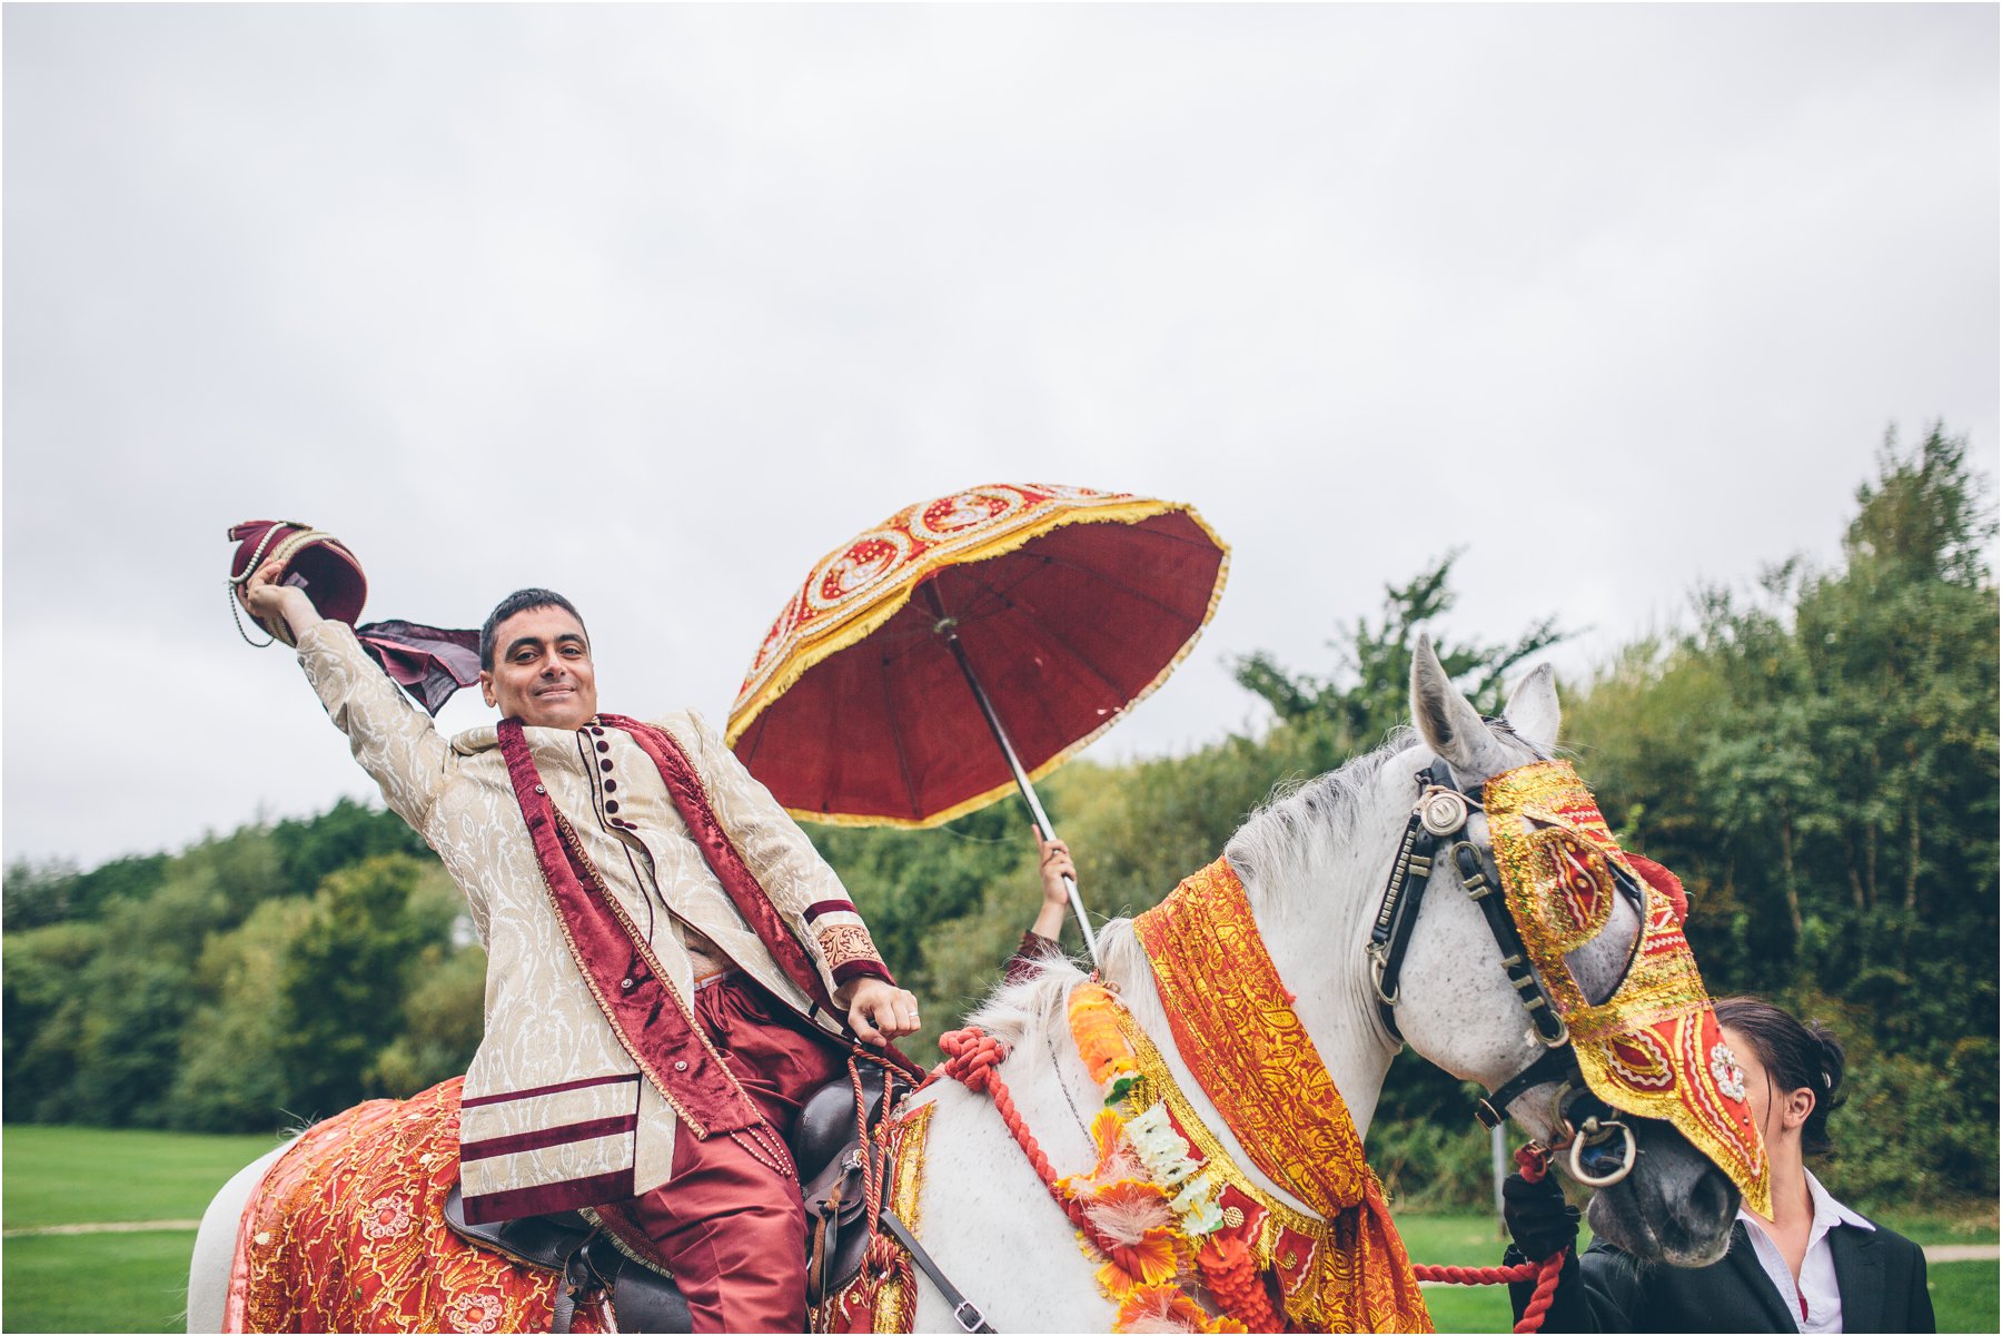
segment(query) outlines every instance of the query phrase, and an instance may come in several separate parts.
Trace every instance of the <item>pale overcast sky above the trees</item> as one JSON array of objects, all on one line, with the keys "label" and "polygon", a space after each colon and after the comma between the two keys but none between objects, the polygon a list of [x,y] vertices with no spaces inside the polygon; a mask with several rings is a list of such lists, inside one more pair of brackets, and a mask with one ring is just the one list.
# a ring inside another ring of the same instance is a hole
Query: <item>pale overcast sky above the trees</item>
[{"label": "pale overcast sky above the trees", "polygon": [[719,727],[823,551],[1009,479],[1233,545],[1089,755],[1449,547],[1582,677],[1832,557],[1888,427],[1992,469],[1996,70],[1994,6],[8,6],[6,857],[372,793],[230,627],[252,517]]}]

